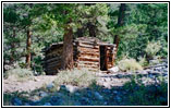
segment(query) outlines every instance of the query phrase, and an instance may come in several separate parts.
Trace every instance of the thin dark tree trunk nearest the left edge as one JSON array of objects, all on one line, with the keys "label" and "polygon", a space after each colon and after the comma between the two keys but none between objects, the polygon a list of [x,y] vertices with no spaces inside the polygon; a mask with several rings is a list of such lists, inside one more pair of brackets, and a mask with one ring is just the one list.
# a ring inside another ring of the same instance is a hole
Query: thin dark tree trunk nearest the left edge
[{"label": "thin dark tree trunk nearest the left edge", "polygon": [[14,43],[15,27],[13,27],[13,36],[12,36],[12,38],[13,38],[13,41],[11,43],[11,63],[14,62],[14,57],[15,57],[15,51],[14,51],[14,49],[15,49],[15,43]]}]

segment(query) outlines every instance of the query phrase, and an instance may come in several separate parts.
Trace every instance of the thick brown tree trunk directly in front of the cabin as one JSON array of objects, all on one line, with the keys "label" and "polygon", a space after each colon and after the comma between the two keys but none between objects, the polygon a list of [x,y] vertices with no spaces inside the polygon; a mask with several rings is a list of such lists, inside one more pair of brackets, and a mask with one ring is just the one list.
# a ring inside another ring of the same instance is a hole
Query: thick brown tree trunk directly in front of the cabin
[{"label": "thick brown tree trunk directly in front of the cabin", "polygon": [[72,69],[73,68],[73,29],[71,26],[64,28],[63,36],[63,55],[61,69]]}]

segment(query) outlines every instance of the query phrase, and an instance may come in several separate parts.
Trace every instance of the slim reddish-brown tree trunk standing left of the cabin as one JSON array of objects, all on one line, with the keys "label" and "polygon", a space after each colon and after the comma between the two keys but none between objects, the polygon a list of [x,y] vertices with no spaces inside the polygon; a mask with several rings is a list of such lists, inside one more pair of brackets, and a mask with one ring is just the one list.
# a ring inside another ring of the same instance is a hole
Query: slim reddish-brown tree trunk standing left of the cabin
[{"label": "slim reddish-brown tree trunk standing left of the cabin", "polygon": [[26,40],[26,68],[29,69],[30,68],[30,45],[32,45],[32,32],[30,29],[28,28],[27,29],[27,40]]}]

